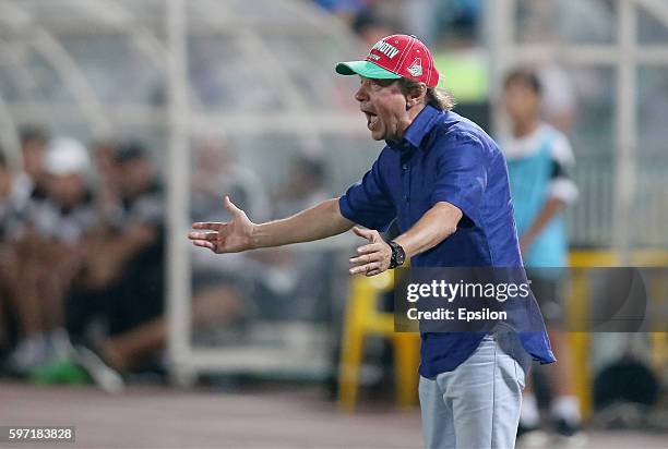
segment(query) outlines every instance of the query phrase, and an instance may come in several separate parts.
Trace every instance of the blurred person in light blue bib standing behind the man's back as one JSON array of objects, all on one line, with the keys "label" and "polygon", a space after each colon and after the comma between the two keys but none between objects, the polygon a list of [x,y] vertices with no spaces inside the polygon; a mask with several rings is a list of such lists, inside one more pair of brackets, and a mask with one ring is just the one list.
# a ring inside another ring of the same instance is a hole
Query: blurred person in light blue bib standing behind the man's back
[{"label": "blurred person in light blue bib standing behind the man's back", "polygon": [[[568,266],[568,239],[563,209],[575,202],[577,189],[570,178],[574,165],[568,138],[540,118],[542,88],[538,75],[518,69],[503,85],[503,105],[512,134],[502,141],[508,160],[520,246],[540,305],[558,363],[547,371],[552,393],[551,420],[560,436],[581,428],[580,402],[573,393],[573,365],[563,331],[563,290]],[[540,428],[532,384],[522,403],[518,434]],[[528,438],[528,435],[527,435]]]}]

